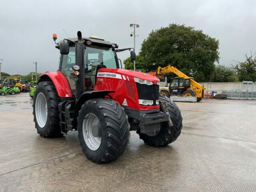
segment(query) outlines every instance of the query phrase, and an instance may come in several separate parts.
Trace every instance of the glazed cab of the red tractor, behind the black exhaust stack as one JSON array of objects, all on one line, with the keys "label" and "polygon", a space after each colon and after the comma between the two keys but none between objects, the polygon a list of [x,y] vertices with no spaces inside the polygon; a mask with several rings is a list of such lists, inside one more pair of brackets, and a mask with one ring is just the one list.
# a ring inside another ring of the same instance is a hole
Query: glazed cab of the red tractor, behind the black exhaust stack
[{"label": "glazed cab of the red tractor, behind the black exhaust stack", "polygon": [[[67,78],[72,93],[76,90],[76,80],[73,66],[76,64],[76,48],[72,43],[77,38],[68,39],[69,53],[60,55],[59,70]],[[60,44],[59,42],[58,44]],[[96,72],[100,68],[120,68],[115,48],[117,44],[98,38],[83,38],[84,47],[84,88],[93,90],[96,81]]]}]

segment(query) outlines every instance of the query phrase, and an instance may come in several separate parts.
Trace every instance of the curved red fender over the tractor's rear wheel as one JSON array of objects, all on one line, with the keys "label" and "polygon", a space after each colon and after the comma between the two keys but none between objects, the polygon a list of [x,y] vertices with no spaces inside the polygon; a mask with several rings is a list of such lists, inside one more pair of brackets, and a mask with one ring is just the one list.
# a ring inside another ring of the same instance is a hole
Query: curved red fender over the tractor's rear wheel
[{"label": "curved red fender over the tractor's rear wheel", "polygon": [[70,86],[68,84],[68,80],[62,74],[62,72],[60,72],[60,71],[46,72],[40,76],[38,83],[44,82],[44,81],[52,81],[53,82],[59,97],[66,97],[66,98],[72,97],[73,98],[71,90],[70,90]]}]

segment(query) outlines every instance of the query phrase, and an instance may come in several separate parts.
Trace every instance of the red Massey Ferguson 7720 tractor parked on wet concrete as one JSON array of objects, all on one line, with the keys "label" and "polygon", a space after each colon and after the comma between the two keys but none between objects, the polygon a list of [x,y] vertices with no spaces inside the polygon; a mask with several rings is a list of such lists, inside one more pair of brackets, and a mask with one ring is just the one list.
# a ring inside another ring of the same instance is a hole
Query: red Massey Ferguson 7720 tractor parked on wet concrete
[{"label": "red Massey Ferguson 7720 tractor parked on wet concrete", "polygon": [[[116,53],[132,48],[77,35],[58,43],[53,36],[60,65],[38,80],[33,104],[38,134],[56,137],[77,130],[84,154],[97,163],[121,156],[131,130],[150,146],[174,142],[182,116],[172,100],[159,96],[159,79],[119,68]],[[135,52],[130,54],[136,60]]]}]

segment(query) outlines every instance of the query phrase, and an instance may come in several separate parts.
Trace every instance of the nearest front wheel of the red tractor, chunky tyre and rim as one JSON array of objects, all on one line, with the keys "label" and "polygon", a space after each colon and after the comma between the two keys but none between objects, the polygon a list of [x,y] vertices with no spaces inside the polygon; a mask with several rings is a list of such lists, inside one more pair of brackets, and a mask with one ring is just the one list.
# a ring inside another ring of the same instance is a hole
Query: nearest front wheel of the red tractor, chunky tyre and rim
[{"label": "nearest front wheel of the red tractor, chunky tyre and rim", "polygon": [[83,153],[92,162],[109,162],[127,148],[130,124],[124,108],[112,99],[91,99],[79,111],[78,138]]}]

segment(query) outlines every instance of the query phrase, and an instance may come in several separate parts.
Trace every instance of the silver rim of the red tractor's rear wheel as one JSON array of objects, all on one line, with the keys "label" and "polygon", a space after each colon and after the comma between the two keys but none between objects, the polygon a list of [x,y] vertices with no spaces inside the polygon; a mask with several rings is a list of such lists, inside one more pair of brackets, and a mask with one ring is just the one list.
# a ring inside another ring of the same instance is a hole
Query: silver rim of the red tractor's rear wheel
[{"label": "silver rim of the red tractor's rear wheel", "polygon": [[48,109],[46,98],[42,92],[38,93],[38,95],[36,96],[35,107],[36,122],[41,128],[43,128],[47,121]]}]

